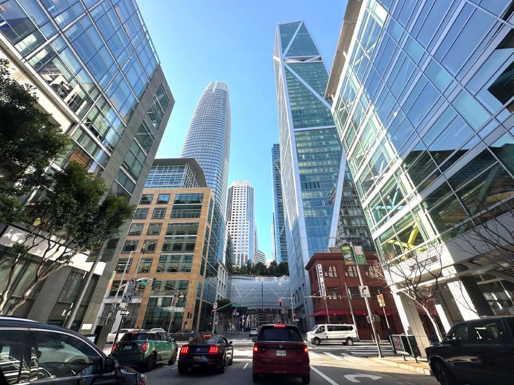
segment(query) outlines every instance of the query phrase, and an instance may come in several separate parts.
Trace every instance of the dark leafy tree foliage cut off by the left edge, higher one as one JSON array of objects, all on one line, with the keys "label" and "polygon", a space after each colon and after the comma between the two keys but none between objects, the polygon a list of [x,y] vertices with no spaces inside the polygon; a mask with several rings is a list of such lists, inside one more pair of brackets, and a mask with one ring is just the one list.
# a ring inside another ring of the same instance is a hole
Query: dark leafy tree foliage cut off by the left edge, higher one
[{"label": "dark leafy tree foliage cut off by the left edge, higher one", "polygon": [[20,197],[51,183],[45,171],[71,141],[35,107],[35,88],[14,82],[8,66],[0,59],[0,222],[15,223],[26,220]]}]

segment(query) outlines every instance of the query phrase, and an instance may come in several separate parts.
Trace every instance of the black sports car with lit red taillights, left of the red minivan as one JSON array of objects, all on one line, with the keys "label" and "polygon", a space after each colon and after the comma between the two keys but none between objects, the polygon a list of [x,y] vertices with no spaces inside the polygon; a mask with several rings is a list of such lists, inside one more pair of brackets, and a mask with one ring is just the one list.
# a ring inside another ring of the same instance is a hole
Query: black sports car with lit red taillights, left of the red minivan
[{"label": "black sports car with lit red taillights, left of the red minivan", "polygon": [[224,373],[226,365],[232,365],[233,355],[232,341],[221,334],[203,342],[189,342],[180,348],[178,373],[186,374],[192,368],[212,368]]}]

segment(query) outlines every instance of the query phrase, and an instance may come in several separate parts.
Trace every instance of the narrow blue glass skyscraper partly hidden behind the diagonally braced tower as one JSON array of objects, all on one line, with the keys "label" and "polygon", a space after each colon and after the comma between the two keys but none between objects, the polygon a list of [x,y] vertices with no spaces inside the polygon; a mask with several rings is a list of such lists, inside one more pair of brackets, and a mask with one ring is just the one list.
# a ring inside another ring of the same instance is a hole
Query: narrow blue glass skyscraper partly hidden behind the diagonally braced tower
[{"label": "narrow blue glass skyscraper partly hidden behind the diagonally braced tower", "polygon": [[282,198],[282,180],[280,177],[280,144],[271,147],[271,174],[273,178],[273,258],[287,262],[287,240],[284,220],[284,201]]}]

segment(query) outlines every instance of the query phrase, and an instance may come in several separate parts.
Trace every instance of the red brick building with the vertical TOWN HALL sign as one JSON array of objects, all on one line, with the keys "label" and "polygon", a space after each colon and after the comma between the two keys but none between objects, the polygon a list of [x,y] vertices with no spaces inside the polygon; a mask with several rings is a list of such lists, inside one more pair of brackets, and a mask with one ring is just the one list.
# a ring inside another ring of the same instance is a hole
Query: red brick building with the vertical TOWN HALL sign
[{"label": "red brick building with the vertical TOWN HALL sign", "polygon": [[[398,317],[398,311],[394,303],[391,291],[386,282],[372,278],[368,274],[368,267],[374,264],[377,257],[374,253],[366,253],[368,265],[359,265],[364,285],[370,287],[371,298],[369,298],[372,314],[380,317],[380,322],[376,322],[377,333],[381,339],[386,339],[388,329],[394,334],[403,333],[403,328]],[[328,306],[328,315],[331,323],[354,323],[350,313],[350,305],[348,304],[348,295],[345,292],[344,284],[346,283],[352,295],[352,306],[355,315],[355,323],[357,324],[357,332],[359,338],[366,340],[371,339],[371,325],[366,320],[368,311],[364,299],[359,295],[359,277],[357,275],[357,266],[354,263],[344,261],[341,252],[316,253],[310,259],[305,269],[309,274],[311,287],[311,295],[319,296],[319,283],[316,265],[323,266],[323,276],[326,288],[326,301]],[[380,307],[377,294],[383,294],[385,307]],[[313,298],[314,313],[313,316],[316,323],[327,323],[325,301],[323,298]],[[389,321],[389,328],[386,322]]]}]

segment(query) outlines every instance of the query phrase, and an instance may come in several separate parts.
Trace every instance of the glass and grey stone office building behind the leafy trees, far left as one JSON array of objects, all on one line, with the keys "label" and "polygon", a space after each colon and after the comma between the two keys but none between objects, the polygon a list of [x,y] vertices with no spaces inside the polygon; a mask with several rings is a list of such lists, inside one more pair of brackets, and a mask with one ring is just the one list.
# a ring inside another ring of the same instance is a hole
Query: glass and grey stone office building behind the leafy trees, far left
[{"label": "glass and grey stone office building behind the leafy trees, far left", "polygon": [[[72,138],[69,152],[52,168],[77,161],[102,177],[111,192],[137,203],[174,100],[135,0],[2,0],[0,57],[9,60],[17,83],[34,86],[38,107]],[[33,199],[40,195],[34,192]],[[17,232],[23,230],[0,229],[0,245],[10,244],[12,234],[6,234]],[[75,329],[94,323],[114,269],[110,258],[122,243],[109,242]],[[86,259],[79,255],[73,267],[52,275],[16,315],[62,324],[90,268]],[[24,274],[30,274],[30,264]],[[22,276],[18,281],[13,296],[28,282]]]}]

